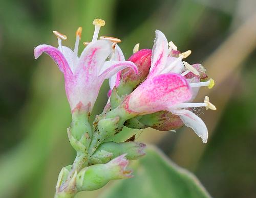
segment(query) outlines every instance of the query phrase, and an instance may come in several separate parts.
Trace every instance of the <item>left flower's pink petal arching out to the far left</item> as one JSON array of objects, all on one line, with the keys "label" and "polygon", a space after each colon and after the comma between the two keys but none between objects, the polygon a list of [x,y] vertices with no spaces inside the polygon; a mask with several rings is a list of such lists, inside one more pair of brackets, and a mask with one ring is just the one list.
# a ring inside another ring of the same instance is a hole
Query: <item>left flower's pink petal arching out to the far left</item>
[{"label": "left flower's pink petal arching out to the far left", "polygon": [[42,53],[48,54],[54,62],[58,65],[59,70],[66,74],[71,74],[72,71],[70,69],[70,66],[68,64],[68,61],[63,56],[63,54],[56,48],[51,45],[38,45],[34,49],[34,55],[35,59],[37,59],[39,56],[41,56]]}]

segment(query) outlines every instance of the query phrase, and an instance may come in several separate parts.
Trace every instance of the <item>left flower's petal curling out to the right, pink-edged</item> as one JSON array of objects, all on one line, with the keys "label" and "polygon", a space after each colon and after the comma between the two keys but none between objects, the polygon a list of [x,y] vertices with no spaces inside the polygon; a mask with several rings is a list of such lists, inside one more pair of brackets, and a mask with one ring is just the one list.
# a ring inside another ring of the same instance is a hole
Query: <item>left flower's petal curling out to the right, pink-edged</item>
[{"label": "left flower's petal curling out to the right, pink-edged", "polygon": [[99,72],[99,77],[108,79],[126,67],[131,67],[135,73],[138,73],[137,66],[131,61],[106,61]]}]

